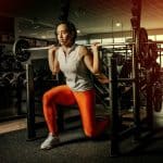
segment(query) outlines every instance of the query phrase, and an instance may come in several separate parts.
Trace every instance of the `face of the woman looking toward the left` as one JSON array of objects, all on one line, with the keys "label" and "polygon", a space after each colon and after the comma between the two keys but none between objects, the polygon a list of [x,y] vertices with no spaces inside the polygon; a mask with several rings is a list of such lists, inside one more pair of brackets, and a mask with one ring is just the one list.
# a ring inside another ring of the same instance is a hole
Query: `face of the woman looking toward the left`
[{"label": "face of the woman looking toward the left", "polygon": [[67,26],[65,24],[60,24],[57,28],[57,36],[59,43],[61,46],[71,46],[72,45],[72,36],[68,33]]}]

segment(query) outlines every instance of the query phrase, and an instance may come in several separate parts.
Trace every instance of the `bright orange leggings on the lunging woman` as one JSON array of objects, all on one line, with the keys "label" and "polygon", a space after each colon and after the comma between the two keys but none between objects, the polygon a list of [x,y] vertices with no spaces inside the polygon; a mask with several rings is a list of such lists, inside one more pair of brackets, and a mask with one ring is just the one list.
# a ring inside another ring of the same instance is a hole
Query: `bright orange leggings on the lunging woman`
[{"label": "bright orange leggings on the lunging woman", "polygon": [[57,105],[78,104],[83,128],[88,137],[99,136],[108,126],[109,121],[96,121],[95,90],[72,91],[66,85],[54,87],[45,92],[43,114],[49,133],[58,135]]}]

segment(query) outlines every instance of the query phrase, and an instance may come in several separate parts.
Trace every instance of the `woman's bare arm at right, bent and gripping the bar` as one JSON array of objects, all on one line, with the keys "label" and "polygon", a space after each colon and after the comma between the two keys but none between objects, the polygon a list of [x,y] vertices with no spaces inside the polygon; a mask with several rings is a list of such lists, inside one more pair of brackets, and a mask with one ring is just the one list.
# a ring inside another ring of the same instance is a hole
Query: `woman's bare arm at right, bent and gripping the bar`
[{"label": "woman's bare arm at right, bent and gripping the bar", "polygon": [[82,47],[82,53],[84,55],[84,62],[92,74],[100,73],[100,60],[99,60],[99,45],[91,46],[90,52],[86,47]]}]

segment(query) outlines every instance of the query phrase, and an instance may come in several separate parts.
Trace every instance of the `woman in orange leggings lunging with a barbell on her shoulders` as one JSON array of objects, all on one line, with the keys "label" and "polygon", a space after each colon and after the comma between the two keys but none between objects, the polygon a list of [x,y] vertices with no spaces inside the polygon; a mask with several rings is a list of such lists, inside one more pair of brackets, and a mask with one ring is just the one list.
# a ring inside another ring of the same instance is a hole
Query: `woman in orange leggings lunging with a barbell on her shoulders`
[{"label": "woman in orange leggings lunging with a barbell on her shoulders", "polygon": [[108,120],[96,121],[95,89],[92,74],[99,73],[99,45],[92,45],[92,53],[75,43],[76,28],[71,22],[60,22],[55,35],[60,47],[51,47],[48,54],[53,74],[63,72],[66,85],[57,86],[43,95],[43,114],[48,125],[48,138],[40,149],[51,149],[59,143],[57,105],[78,104],[84,133],[87,137],[98,137],[108,126]]}]

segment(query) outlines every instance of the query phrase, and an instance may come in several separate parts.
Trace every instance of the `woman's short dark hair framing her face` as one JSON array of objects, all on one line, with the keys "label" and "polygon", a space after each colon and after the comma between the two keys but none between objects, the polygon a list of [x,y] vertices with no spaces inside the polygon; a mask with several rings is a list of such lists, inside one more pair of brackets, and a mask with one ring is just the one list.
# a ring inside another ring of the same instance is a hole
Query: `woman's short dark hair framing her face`
[{"label": "woman's short dark hair framing her face", "polygon": [[70,21],[60,21],[59,23],[57,23],[55,28],[54,28],[54,34],[55,34],[57,39],[58,39],[57,28],[61,24],[65,24],[66,25],[68,33],[73,36],[73,40],[72,41],[75,42],[75,39],[77,37],[77,32],[76,32],[75,25],[72,22],[70,22]]}]

